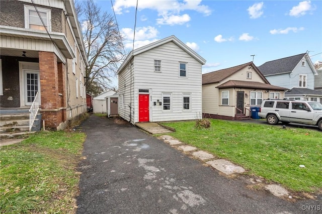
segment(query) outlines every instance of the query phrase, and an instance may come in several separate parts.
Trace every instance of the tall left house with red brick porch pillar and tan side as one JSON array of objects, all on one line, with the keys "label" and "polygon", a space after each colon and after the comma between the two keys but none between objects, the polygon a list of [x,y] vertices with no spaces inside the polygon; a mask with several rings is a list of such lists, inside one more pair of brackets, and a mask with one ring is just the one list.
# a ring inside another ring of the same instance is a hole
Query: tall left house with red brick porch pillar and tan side
[{"label": "tall left house with red brick porch pillar and tan side", "polygon": [[0,110],[29,109],[38,92],[42,121],[64,129],[87,110],[82,30],[72,0],[2,1]]}]

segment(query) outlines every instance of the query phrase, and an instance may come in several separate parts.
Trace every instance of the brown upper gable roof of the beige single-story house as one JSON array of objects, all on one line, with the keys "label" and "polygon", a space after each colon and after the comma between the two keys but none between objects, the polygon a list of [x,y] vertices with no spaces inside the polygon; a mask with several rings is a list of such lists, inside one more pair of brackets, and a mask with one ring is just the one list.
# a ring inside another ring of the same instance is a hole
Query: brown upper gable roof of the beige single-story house
[{"label": "brown upper gable roof of the beige single-story house", "polygon": [[231,68],[226,68],[218,71],[213,71],[210,73],[202,74],[202,84],[211,84],[211,83],[219,83],[225,78],[231,76],[235,72],[247,67],[251,66],[257,73],[262,77],[265,83],[269,84],[269,81],[265,78],[265,76],[259,71],[256,65],[253,62],[248,62],[242,65],[237,65]]}]

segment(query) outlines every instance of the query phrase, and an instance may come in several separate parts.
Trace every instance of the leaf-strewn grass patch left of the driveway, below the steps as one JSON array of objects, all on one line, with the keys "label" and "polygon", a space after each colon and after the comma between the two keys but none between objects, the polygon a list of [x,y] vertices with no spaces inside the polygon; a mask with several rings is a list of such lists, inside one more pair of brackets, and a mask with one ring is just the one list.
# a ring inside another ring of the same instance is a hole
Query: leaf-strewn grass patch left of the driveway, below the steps
[{"label": "leaf-strewn grass patch left of the driveway, below the steps", "polygon": [[74,213],[84,141],[84,133],[39,132],[1,147],[1,213]]}]

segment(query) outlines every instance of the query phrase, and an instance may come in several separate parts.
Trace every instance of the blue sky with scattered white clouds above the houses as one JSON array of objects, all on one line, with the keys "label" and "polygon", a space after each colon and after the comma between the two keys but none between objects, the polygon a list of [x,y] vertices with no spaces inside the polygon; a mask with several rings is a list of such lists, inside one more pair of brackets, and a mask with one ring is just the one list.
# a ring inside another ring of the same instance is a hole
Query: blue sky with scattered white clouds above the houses
[{"label": "blue sky with scattered white clouds above the houses", "polygon": [[[93,0],[113,15],[110,0]],[[112,0],[128,49],[135,0]],[[113,15],[114,16],[114,15]],[[175,35],[207,60],[203,73],[309,51],[322,61],[322,1],[138,0],[134,47]]]}]

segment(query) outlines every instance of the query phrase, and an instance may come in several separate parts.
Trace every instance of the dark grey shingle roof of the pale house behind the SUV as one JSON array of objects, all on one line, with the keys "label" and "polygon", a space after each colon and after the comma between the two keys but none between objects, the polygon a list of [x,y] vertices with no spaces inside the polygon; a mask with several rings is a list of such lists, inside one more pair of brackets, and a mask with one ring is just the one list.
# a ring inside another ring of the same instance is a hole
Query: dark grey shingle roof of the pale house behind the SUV
[{"label": "dark grey shingle roof of the pale house behind the SUV", "polygon": [[302,53],[295,56],[265,62],[263,65],[258,66],[258,69],[264,74],[264,76],[279,73],[290,73],[293,71],[298,62],[302,60],[305,54],[306,53]]}]

